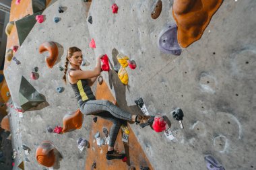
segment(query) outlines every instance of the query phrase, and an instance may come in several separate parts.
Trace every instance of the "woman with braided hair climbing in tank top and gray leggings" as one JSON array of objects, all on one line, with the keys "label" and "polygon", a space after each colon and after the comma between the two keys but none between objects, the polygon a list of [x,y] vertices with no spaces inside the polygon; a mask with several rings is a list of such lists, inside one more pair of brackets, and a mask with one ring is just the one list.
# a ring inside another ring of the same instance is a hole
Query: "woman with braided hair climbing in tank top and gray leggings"
[{"label": "woman with braided hair climbing in tank top and gray leggings", "polygon": [[[96,100],[96,97],[92,93],[90,86],[94,84],[97,77],[101,72],[100,58],[96,59],[96,67],[92,71],[82,71],[80,65],[82,65],[82,51],[77,47],[71,47],[67,51],[67,58],[65,63],[65,73],[63,80],[66,82],[66,73],[68,75],[69,83],[73,91],[75,91],[75,97],[78,101],[79,109],[84,115],[100,116],[106,120],[113,122],[113,126],[110,129],[110,141],[108,144],[108,152],[106,153],[106,159],[123,159],[125,154],[121,154],[115,151],[114,145],[119,133],[120,126],[123,121],[136,122],[141,127],[148,125],[148,121],[151,120],[150,116],[141,116],[130,114],[121,110],[108,100]],[[67,65],[70,63],[69,69]]]}]

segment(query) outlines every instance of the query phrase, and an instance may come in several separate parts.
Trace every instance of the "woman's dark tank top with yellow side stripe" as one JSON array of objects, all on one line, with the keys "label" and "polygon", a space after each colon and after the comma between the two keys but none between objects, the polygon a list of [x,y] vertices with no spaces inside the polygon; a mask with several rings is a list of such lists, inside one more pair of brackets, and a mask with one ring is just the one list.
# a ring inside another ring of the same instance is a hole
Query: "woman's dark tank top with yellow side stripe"
[{"label": "woman's dark tank top with yellow side stripe", "polygon": [[[68,74],[70,71],[75,71],[75,69],[69,69]],[[73,91],[75,91],[75,98],[77,99],[79,105],[88,100],[96,99],[94,93],[92,93],[90,85],[88,84],[88,79],[80,79],[77,81],[77,83],[71,84],[71,87]]]}]

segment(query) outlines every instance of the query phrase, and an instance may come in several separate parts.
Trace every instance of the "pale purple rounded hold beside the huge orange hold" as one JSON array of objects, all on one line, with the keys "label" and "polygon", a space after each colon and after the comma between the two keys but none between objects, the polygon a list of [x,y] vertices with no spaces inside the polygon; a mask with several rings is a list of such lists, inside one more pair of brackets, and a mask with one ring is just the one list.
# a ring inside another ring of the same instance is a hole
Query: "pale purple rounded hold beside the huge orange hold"
[{"label": "pale purple rounded hold beside the huge orange hold", "polygon": [[168,24],[158,36],[158,48],[168,54],[181,55],[181,47],[177,40],[176,24]]}]

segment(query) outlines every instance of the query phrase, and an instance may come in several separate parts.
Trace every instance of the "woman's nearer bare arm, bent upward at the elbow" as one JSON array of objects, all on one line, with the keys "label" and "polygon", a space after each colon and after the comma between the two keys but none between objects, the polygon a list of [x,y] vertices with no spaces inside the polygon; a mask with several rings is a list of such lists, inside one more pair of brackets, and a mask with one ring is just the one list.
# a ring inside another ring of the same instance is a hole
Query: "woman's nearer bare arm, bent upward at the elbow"
[{"label": "woman's nearer bare arm, bent upward at the elbow", "polygon": [[81,71],[81,70],[77,70],[77,71],[70,71],[69,76],[72,79],[75,80],[79,80],[79,79],[90,79],[92,77],[97,77],[100,75],[101,72],[101,65],[100,65],[100,58],[103,55],[98,56],[98,58],[96,59],[96,66],[94,68],[94,70],[92,71]]}]

